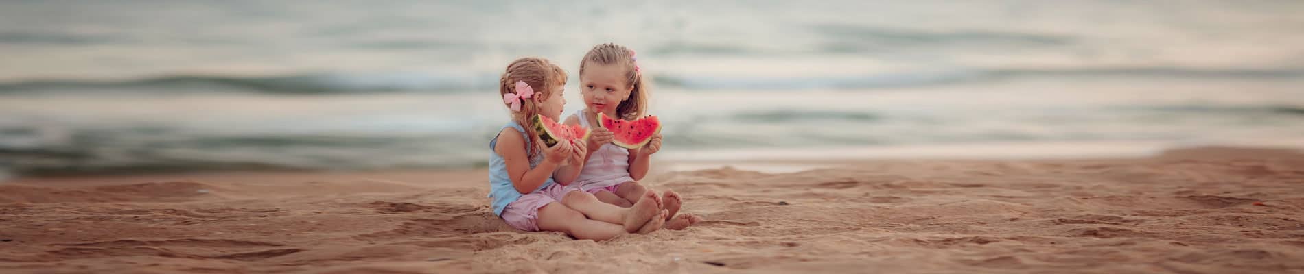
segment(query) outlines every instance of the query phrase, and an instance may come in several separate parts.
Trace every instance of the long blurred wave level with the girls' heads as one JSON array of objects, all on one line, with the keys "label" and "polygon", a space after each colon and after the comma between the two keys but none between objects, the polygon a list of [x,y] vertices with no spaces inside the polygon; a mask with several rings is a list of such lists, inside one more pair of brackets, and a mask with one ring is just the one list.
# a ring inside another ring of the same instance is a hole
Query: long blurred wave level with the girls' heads
[{"label": "long blurred wave level with the girls' heads", "polygon": [[[724,77],[653,74],[659,86],[694,91],[711,90],[875,90],[936,84],[982,83],[1025,78],[1178,78],[1178,79],[1304,79],[1304,68],[1192,69],[1192,68],[1078,68],[1078,69],[947,69],[835,77]],[[168,75],[126,81],[52,79],[0,82],[0,93],[23,92],[205,92],[257,93],[373,93],[469,92],[493,90],[493,73],[313,73],[279,77]]]}]

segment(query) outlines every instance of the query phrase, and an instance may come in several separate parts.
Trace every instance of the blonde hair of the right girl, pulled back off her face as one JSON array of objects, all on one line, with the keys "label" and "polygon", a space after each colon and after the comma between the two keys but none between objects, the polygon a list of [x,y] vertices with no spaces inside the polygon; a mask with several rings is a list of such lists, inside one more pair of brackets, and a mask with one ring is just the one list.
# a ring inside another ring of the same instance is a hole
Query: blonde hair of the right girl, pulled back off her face
[{"label": "blonde hair of the right girl, pulled back off her face", "polygon": [[584,68],[588,64],[599,65],[619,65],[625,68],[625,75],[629,84],[634,86],[630,91],[630,97],[615,105],[615,116],[623,119],[635,119],[643,116],[648,106],[648,92],[649,87],[647,84],[647,77],[638,68],[634,60],[634,51],[626,48],[625,45],[606,43],[593,45],[593,49],[588,49],[584,53],[584,58],[579,62],[579,75],[584,75]]}]

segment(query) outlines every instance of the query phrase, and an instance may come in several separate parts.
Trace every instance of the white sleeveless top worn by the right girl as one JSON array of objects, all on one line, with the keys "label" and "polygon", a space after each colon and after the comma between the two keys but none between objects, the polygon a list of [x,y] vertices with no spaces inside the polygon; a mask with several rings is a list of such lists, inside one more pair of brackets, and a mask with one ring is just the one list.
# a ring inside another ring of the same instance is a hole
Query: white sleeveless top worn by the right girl
[{"label": "white sleeveless top worn by the right girl", "polygon": [[[584,110],[575,113],[580,125],[593,129],[584,116]],[[615,144],[602,144],[596,152],[588,156],[584,169],[579,171],[579,178],[570,186],[579,186],[580,190],[610,187],[634,181],[630,177],[630,151]]]}]

